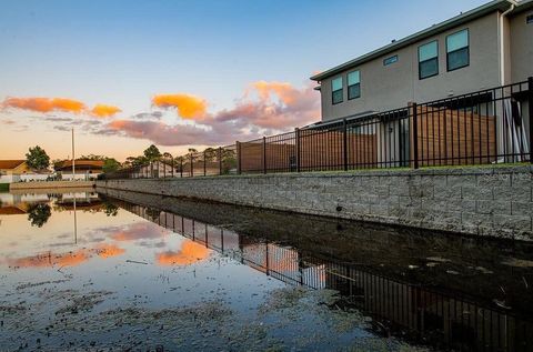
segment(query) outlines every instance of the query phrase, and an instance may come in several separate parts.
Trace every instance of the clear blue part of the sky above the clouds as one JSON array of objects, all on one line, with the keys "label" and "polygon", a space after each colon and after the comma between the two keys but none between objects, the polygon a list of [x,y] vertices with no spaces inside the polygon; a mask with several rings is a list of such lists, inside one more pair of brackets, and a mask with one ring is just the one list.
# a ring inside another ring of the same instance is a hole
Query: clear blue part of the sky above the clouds
[{"label": "clear blue part of the sky above the clouds", "polygon": [[0,0],[0,101],[68,97],[129,115],[154,94],[185,92],[210,111],[232,109],[253,82],[302,88],[318,70],[484,2]]}]

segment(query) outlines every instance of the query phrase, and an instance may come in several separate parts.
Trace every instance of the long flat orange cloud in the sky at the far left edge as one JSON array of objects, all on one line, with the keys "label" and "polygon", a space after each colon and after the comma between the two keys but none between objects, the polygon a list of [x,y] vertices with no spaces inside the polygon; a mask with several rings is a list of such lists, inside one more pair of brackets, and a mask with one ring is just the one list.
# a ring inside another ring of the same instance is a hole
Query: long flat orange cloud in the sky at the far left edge
[{"label": "long flat orange cloud in the sky at the far left edge", "polygon": [[86,110],[81,101],[66,98],[7,98],[2,109],[13,108],[37,112],[66,111],[80,113]]}]

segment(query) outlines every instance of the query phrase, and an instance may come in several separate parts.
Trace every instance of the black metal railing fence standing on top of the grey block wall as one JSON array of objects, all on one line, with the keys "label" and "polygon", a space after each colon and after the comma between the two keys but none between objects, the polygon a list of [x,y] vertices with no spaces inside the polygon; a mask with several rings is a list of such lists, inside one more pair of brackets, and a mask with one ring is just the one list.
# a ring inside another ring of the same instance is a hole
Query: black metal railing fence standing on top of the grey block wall
[{"label": "black metal railing fence standing on top of the grey block wall", "polygon": [[[107,179],[533,162],[533,78],[190,152]],[[527,129],[526,129],[527,127]],[[155,168],[157,172],[153,172]]]}]

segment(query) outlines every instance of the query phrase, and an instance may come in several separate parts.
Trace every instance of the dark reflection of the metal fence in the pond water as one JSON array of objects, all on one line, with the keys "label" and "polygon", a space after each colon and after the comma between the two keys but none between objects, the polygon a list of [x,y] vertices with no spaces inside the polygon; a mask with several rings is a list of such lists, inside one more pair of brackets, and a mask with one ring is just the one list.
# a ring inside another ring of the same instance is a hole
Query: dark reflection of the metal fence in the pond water
[{"label": "dark reflection of the metal fence in the pond water", "polygon": [[344,298],[340,304],[370,314],[388,333],[423,340],[439,349],[533,350],[533,322],[527,313],[386,278],[363,265],[319,259],[169,212],[127,202],[120,207],[283,282],[336,290]]}]

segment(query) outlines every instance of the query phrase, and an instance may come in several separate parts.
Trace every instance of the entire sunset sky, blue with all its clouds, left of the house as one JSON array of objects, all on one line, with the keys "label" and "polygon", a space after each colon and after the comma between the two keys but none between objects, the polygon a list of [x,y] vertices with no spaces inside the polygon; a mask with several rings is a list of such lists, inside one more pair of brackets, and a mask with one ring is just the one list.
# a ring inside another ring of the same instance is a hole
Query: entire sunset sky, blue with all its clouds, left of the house
[{"label": "entire sunset sky, blue with all its clouds, left of the house", "polygon": [[174,155],[320,120],[310,77],[484,0],[0,0],[0,159]]}]

